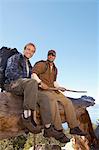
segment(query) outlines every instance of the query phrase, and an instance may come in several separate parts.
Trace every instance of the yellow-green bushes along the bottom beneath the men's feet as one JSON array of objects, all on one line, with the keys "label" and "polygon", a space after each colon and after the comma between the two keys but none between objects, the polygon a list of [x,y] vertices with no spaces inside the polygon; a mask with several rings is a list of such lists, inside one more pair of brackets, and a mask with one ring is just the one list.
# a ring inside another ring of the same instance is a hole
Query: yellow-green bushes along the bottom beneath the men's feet
[{"label": "yellow-green bushes along the bottom beneath the men's feet", "polygon": [[[66,135],[69,137],[68,134],[69,130],[64,131]],[[58,142],[54,138],[44,138],[43,133],[40,134],[31,134],[28,135],[21,135],[15,138],[0,140],[0,150],[29,150],[31,146],[34,145],[59,145],[64,146],[64,144]]]}]

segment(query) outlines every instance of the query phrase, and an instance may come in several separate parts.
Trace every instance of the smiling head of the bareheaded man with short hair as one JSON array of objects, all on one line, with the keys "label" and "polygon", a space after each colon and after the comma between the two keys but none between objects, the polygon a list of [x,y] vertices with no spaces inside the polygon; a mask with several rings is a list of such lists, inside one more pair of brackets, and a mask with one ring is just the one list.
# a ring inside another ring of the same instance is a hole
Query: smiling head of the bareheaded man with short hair
[{"label": "smiling head of the bareheaded man with short hair", "polygon": [[24,56],[29,59],[34,55],[35,51],[36,51],[35,46],[32,43],[30,43],[24,47],[23,53],[24,53]]}]

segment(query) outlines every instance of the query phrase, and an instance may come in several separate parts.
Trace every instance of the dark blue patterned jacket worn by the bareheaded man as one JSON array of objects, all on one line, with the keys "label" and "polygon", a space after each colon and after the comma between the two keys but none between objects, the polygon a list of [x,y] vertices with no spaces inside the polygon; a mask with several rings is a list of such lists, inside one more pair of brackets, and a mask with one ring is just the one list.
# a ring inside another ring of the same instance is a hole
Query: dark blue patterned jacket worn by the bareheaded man
[{"label": "dark blue patterned jacket worn by the bareheaded man", "polygon": [[7,67],[5,70],[5,83],[10,83],[11,81],[15,81],[19,78],[30,78],[32,66],[30,61],[29,64],[29,77],[27,77],[26,70],[26,58],[21,54],[15,54],[8,59]]}]

